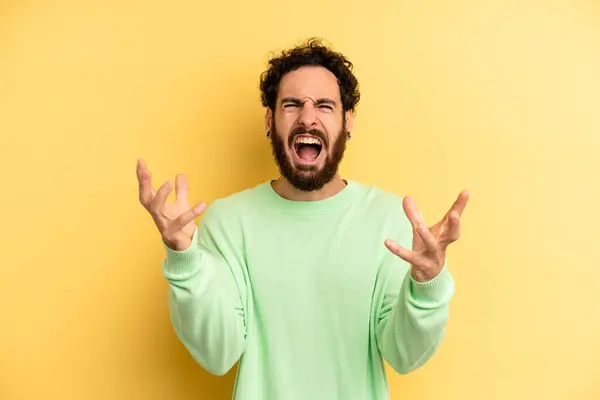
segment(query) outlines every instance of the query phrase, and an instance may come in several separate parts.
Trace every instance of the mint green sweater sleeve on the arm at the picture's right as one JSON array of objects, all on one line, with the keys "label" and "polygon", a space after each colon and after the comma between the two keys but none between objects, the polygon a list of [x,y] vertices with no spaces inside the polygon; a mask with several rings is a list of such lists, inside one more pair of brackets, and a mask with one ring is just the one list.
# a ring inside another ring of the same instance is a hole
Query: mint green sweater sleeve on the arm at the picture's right
[{"label": "mint green sweater sleeve on the arm at the picture's right", "polygon": [[[410,249],[412,229],[406,231],[398,243]],[[447,264],[430,281],[418,282],[406,261],[391,252],[384,259],[377,342],[390,366],[407,374],[425,364],[445,338],[454,280]]]}]

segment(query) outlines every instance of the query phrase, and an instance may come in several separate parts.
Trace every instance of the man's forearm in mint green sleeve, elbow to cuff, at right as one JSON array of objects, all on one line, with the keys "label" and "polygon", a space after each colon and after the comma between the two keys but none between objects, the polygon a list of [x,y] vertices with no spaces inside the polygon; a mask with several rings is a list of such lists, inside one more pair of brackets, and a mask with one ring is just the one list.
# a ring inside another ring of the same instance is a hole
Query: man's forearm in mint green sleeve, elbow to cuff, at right
[{"label": "man's forearm in mint green sleeve, elbow to cuff, at right", "polygon": [[406,274],[397,302],[378,325],[381,353],[398,373],[409,373],[433,356],[445,337],[453,294],[454,281],[445,267],[425,283]]}]

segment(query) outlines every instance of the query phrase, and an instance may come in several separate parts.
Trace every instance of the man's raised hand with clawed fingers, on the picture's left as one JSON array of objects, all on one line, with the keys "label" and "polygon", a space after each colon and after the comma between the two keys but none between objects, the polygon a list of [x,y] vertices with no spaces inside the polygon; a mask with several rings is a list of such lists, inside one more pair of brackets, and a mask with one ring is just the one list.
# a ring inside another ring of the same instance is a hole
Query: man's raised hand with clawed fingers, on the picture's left
[{"label": "man's raised hand with clawed fingers, on the picture's left", "polygon": [[140,203],[152,216],[162,240],[173,250],[187,250],[192,244],[196,230],[194,219],[204,212],[206,203],[190,208],[188,181],[183,174],[175,178],[176,200],[172,204],[167,204],[167,197],[173,190],[171,182],[165,182],[155,191],[151,182],[152,175],[143,160],[138,160],[137,177],[140,184]]}]

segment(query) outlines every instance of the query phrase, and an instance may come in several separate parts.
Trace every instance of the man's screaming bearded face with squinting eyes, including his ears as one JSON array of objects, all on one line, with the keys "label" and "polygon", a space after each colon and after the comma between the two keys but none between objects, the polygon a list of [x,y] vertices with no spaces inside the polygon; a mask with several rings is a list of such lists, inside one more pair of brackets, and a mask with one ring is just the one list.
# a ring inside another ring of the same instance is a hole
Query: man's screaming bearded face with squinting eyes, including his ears
[{"label": "man's screaming bearded face with squinting eyes, including his ears", "polygon": [[304,67],[286,74],[275,111],[267,112],[273,155],[283,177],[303,191],[330,182],[342,161],[351,123],[333,73]]}]

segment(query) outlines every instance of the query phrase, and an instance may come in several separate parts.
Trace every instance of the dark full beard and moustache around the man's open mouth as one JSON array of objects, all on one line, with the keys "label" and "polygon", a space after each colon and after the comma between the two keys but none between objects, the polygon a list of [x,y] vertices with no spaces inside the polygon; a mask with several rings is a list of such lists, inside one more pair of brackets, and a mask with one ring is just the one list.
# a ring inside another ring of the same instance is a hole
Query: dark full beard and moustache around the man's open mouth
[{"label": "dark full beard and moustache around the man's open mouth", "polygon": [[[275,119],[271,121],[271,145],[273,157],[279,167],[281,175],[296,189],[304,192],[312,192],[321,189],[335,177],[338,172],[344,152],[346,151],[346,119],[343,119],[342,129],[337,138],[331,143],[325,133],[318,129],[296,128],[289,136],[286,146],[284,140],[277,132]],[[323,147],[321,151],[325,151],[327,158],[322,167],[313,165],[294,165],[291,157],[288,155],[287,149],[294,151],[293,143],[297,135],[310,134],[321,139]]]}]

